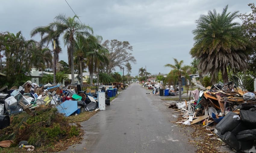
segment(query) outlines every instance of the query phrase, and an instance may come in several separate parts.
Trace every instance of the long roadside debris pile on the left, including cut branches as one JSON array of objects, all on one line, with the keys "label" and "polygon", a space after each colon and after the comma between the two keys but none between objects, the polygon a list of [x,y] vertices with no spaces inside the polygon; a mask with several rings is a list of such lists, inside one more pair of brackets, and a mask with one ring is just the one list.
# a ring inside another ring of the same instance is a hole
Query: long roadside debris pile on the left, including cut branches
[{"label": "long roadside debris pile on the left, including cut branches", "polygon": [[31,81],[19,88],[0,88],[0,129],[4,129],[0,131],[0,144],[27,140],[29,144],[20,144],[20,148],[33,151],[34,146],[49,145],[63,138],[73,141],[73,136],[81,132],[79,124],[70,124],[66,117],[83,111],[105,110],[105,104],[110,104],[108,95],[107,91],[93,88],[82,91],[81,85],[39,86]]}]

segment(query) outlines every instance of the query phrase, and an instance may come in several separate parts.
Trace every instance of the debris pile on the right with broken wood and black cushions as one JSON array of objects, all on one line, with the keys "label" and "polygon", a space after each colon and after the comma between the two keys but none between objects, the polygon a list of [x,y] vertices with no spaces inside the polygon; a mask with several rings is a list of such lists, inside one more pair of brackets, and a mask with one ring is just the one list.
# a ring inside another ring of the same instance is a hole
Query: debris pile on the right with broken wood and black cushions
[{"label": "debris pile on the right with broken wood and black cushions", "polygon": [[191,91],[193,100],[169,106],[178,108],[174,117],[183,117],[176,124],[202,124],[236,151],[251,149],[256,140],[255,94],[240,90],[233,82],[207,88],[198,82],[195,85],[199,90]]}]

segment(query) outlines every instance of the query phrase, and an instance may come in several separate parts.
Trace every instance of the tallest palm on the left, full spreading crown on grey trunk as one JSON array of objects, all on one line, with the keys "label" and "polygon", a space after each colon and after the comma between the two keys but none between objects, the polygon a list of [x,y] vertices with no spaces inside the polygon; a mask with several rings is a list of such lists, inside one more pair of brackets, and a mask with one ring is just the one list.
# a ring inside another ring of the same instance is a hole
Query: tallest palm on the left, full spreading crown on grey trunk
[{"label": "tallest palm on the left, full spreading crown on grey trunk", "polygon": [[91,27],[86,26],[78,21],[78,16],[67,17],[64,14],[59,14],[55,17],[55,21],[50,23],[51,26],[56,27],[61,33],[64,33],[63,39],[65,46],[67,45],[68,63],[71,69],[71,83],[75,83],[74,73],[74,46],[77,35],[89,36],[93,33]]}]

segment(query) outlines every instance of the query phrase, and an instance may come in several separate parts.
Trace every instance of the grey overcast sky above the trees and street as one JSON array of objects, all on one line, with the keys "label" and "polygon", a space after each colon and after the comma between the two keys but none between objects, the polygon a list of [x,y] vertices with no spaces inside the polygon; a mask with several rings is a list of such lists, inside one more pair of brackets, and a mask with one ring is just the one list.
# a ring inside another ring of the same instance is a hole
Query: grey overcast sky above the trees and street
[{"label": "grey overcast sky above the trees and street", "polygon": [[[67,0],[80,20],[93,28],[103,41],[129,41],[136,64],[131,63],[131,75],[143,67],[151,74],[169,73],[165,64],[173,58],[190,65],[189,51],[193,46],[195,20],[214,8],[228,12],[250,13],[249,3],[255,0]],[[59,13],[74,16],[65,0],[2,0],[0,31],[17,33],[30,39],[30,31],[46,26]],[[236,21],[241,22],[239,19]],[[39,36],[34,37],[40,41]],[[61,39],[62,41],[62,39]],[[67,62],[67,49],[62,43],[60,60]],[[122,71],[117,68],[117,71]],[[126,74],[127,72],[125,72]]]}]

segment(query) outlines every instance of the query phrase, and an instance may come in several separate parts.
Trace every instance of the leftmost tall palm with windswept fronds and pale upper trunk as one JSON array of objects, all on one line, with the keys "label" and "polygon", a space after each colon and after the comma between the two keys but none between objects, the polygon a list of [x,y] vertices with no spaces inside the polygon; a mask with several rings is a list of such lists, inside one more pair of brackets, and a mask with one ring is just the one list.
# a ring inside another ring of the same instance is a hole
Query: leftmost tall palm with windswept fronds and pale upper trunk
[{"label": "leftmost tall palm with windswept fronds and pale upper trunk", "polygon": [[61,52],[61,47],[59,45],[60,44],[59,37],[60,37],[61,31],[54,28],[53,26],[38,26],[30,32],[30,36],[33,37],[38,33],[41,35],[40,46],[43,46],[43,44],[47,44],[46,46],[48,46],[49,43],[52,44],[53,84],[55,85],[56,84],[56,63],[59,59],[59,53]]}]

